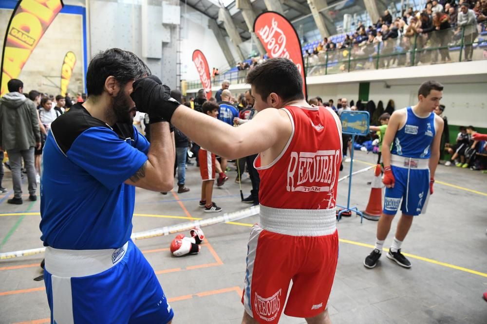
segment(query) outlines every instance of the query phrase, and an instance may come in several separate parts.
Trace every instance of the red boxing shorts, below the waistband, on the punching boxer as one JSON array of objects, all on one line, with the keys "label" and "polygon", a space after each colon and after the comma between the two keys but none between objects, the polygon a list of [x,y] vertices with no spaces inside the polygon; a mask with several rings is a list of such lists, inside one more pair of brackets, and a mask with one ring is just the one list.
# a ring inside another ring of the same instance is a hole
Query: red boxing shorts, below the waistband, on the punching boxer
[{"label": "red boxing shorts, below the waistband, on the punching boxer", "polygon": [[252,227],[247,246],[242,303],[259,323],[278,323],[284,314],[314,317],[326,309],[338,258],[338,232],[325,236],[283,235]]}]

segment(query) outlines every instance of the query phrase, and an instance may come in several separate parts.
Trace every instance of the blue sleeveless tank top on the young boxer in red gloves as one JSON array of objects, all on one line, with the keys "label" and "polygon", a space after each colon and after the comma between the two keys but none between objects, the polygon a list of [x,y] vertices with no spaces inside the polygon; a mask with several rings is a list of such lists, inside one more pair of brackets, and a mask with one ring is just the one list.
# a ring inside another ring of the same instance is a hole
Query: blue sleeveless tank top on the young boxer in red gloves
[{"label": "blue sleeveless tank top on the young boxer in red gloves", "polygon": [[434,113],[421,118],[411,107],[406,108],[406,124],[397,131],[391,153],[405,157],[427,159],[431,156],[431,143],[436,134]]}]

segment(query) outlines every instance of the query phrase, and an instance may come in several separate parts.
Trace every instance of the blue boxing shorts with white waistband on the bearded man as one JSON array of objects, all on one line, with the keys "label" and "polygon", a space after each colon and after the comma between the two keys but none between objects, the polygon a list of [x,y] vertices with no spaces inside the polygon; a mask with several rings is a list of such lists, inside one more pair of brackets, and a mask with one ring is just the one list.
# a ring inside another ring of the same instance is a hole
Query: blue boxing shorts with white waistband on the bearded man
[{"label": "blue boxing shorts with white waistband on the bearded man", "polygon": [[46,248],[51,323],[168,323],[174,316],[157,277],[131,240],[119,249]]}]

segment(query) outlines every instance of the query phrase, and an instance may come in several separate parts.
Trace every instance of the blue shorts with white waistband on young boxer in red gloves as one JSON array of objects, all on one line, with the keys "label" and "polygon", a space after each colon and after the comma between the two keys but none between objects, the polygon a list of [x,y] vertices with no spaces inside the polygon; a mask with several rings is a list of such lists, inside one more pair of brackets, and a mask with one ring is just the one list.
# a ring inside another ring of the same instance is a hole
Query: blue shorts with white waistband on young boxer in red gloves
[{"label": "blue shorts with white waistband on young boxer in red gloves", "polygon": [[382,212],[395,215],[401,206],[401,212],[405,215],[424,214],[430,197],[428,159],[399,158],[393,155],[391,171],[395,178],[394,188],[386,188]]}]

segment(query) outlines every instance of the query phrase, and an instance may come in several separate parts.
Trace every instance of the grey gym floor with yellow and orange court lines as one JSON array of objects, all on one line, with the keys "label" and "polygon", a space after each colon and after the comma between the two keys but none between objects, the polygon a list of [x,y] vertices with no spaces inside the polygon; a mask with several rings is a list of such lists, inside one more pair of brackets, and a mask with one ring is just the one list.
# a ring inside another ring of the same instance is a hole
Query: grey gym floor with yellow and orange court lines
[{"label": "grey gym floor with yellow and orange court lines", "polygon": [[[375,161],[372,153],[356,152],[354,170]],[[248,207],[240,202],[236,172],[230,166],[230,179],[213,192],[224,212]],[[342,175],[348,173],[350,164],[344,163],[344,167]],[[372,177],[372,171],[354,176],[351,206],[365,209],[370,193],[367,182]],[[334,324],[487,323],[487,302],[482,298],[487,291],[487,174],[440,165],[435,178],[428,213],[414,220],[403,243],[411,269],[403,269],[385,256],[375,269],[364,268],[377,223],[364,219],[360,224],[355,214],[338,222],[340,253],[328,304]],[[10,179],[6,171],[3,186],[9,189]],[[201,181],[196,166],[188,166],[186,185],[191,191],[180,195],[137,189],[134,231],[218,215],[198,208]],[[245,195],[250,187],[245,175]],[[348,182],[341,182],[338,188],[337,201],[346,205]],[[42,246],[39,202],[32,204],[26,198],[23,205],[8,205],[7,196],[0,195],[0,252]],[[206,243],[193,256],[170,255],[169,243],[175,235],[135,241],[169,298],[175,312],[173,323],[240,323],[246,244],[255,222],[257,216],[205,227]],[[385,247],[392,243],[396,223],[397,218]],[[44,282],[33,280],[41,274],[42,258],[39,254],[0,261],[0,323],[49,323]],[[305,322],[283,315],[281,323]]]}]

